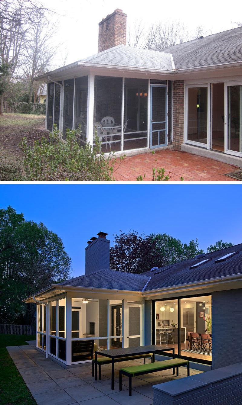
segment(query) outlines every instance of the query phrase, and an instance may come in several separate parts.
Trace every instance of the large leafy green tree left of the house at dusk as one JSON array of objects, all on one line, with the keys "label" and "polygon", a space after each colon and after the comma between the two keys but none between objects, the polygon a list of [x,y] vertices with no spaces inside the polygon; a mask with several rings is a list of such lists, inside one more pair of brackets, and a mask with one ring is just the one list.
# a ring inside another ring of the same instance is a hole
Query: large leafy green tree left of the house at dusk
[{"label": "large leafy green tree left of the house at dusk", "polygon": [[24,311],[25,322],[32,324],[35,306],[21,299],[68,279],[70,266],[56,233],[25,221],[12,207],[0,209],[0,322],[13,322]]}]

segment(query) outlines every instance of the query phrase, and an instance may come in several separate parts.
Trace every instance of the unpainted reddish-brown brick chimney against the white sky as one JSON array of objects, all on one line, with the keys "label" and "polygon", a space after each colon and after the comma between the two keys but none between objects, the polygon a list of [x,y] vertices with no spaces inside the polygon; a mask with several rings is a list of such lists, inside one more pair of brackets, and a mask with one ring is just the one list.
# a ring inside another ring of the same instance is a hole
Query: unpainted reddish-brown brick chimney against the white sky
[{"label": "unpainted reddish-brown brick chimney against the white sky", "polygon": [[99,23],[99,52],[117,45],[126,45],[126,18],[122,10],[116,9]]}]

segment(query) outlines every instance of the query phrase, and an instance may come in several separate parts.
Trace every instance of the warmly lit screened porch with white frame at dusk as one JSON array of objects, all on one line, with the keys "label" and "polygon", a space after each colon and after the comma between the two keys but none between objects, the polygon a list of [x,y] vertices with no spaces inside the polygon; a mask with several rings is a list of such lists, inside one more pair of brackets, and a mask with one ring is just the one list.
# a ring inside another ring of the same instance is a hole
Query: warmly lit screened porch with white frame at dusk
[{"label": "warmly lit screened porch with white frame at dusk", "polygon": [[97,350],[143,345],[142,301],[78,295],[37,305],[36,347],[71,365]]}]

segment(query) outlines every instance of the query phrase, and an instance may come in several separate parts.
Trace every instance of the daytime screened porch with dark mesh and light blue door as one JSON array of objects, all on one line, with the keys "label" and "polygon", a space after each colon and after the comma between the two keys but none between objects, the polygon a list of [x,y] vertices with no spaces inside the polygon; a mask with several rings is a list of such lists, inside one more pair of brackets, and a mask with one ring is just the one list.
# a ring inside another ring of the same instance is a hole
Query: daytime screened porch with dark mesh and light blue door
[{"label": "daytime screened porch with dark mesh and light blue door", "polygon": [[[57,119],[56,117],[59,117]],[[48,84],[48,130],[66,140],[79,129],[80,146],[133,151],[171,142],[172,81],[87,75]]]}]

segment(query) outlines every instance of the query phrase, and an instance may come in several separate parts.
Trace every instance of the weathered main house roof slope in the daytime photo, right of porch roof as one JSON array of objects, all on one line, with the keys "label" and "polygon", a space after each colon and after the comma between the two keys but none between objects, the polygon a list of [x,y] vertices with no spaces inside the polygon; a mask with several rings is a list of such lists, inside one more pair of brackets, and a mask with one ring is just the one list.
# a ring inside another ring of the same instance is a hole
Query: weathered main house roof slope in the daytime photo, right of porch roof
[{"label": "weathered main house roof slope in the daytime photo, right of porch roof", "polygon": [[179,70],[241,62],[242,27],[173,45],[160,51],[172,54],[175,67]]}]

